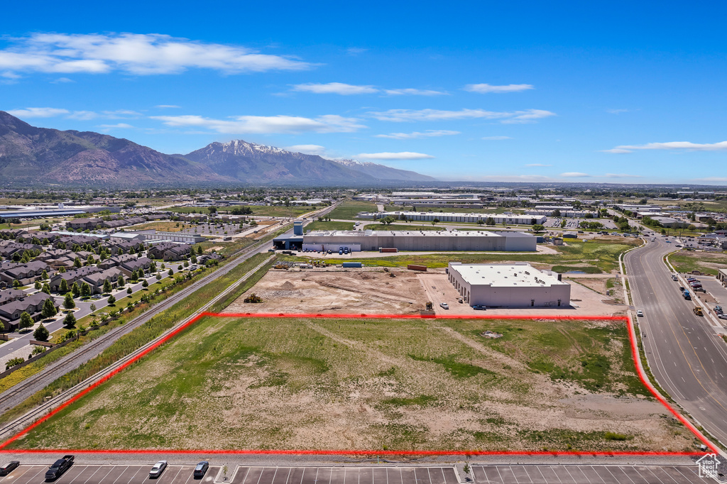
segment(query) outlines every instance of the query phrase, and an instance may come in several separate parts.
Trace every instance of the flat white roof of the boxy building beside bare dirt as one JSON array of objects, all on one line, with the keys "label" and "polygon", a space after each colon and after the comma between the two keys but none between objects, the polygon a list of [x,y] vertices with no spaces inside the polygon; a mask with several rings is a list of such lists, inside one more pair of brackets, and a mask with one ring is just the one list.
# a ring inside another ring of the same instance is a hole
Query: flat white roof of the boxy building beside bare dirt
[{"label": "flat white roof of the boxy building beside bare dirt", "polygon": [[550,287],[567,286],[568,283],[542,273],[531,265],[489,265],[489,264],[454,264],[449,265],[470,286],[491,287]]}]

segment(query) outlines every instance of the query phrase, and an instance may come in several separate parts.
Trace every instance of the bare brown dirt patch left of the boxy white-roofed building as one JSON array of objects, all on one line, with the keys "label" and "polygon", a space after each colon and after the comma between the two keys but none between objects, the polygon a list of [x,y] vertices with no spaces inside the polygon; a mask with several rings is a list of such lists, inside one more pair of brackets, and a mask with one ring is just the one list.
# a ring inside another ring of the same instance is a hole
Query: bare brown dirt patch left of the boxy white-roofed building
[{"label": "bare brown dirt patch left of the boxy white-roofed building", "polygon": [[270,270],[254,293],[262,304],[251,308],[241,298],[228,311],[411,314],[424,309],[427,300],[416,274],[381,268]]}]

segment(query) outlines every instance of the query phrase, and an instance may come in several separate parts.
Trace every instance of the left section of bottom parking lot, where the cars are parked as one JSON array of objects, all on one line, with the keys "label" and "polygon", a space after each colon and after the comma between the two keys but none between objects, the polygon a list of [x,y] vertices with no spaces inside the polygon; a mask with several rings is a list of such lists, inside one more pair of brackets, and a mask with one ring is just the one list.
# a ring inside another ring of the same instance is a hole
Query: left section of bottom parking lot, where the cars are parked
[{"label": "left section of bottom parking lot, where the cars are parked", "polygon": [[[133,483],[158,483],[158,484],[185,484],[185,483],[212,483],[214,477],[220,472],[220,466],[210,466],[206,475],[201,479],[192,476],[193,465],[173,466],[164,469],[164,473],[158,479],[150,479],[149,471],[151,465],[84,465],[73,464],[65,474],[58,477],[55,483],[58,484],[133,484]],[[10,472],[6,477],[0,477],[0,483],[30,484],[45,482],[47,466],[20,466]]]}]

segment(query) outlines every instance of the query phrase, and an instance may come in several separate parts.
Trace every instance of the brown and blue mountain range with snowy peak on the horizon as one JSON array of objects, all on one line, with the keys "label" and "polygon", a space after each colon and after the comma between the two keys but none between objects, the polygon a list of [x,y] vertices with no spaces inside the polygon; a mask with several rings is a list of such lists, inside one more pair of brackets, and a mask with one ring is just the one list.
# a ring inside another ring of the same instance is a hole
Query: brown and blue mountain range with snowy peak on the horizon
[{"label": "brown and blue mountain range with snowy peak on the horizon", "polygon": [[330,160],[243,140],[166,155],[108,134],[38,128],[0,111],[3,186],[367,186],[432,181],[390,166]]}]

